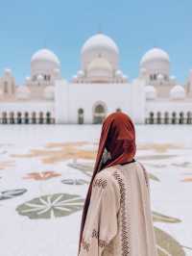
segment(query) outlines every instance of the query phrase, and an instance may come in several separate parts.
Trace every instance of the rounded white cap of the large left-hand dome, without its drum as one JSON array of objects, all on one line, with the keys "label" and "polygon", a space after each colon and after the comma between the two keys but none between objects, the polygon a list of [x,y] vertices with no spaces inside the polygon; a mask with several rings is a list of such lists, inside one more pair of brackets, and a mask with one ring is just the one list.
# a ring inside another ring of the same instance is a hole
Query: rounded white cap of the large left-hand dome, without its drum
[{"label": "rounded white cap of the large left-hand dome, without its drum", "polygon": [[32,63],[34,62],[51,62],[60,65],[58,57],[48,49],[40,49],[32,56]]}]

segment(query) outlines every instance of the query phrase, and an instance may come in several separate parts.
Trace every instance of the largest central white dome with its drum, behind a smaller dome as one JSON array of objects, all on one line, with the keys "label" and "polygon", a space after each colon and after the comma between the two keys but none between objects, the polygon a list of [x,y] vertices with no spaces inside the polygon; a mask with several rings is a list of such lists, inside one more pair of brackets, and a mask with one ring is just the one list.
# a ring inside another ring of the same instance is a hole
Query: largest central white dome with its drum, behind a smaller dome
[{"label": "largest central white dome with its drum, behind a smaller dome", "polygon": [[116,43],[104,34],[97,34],[88,38],[82,47],[82,67],[87,66],[98,57],[104,58],[116,69],[118,65],[119,50]]}]

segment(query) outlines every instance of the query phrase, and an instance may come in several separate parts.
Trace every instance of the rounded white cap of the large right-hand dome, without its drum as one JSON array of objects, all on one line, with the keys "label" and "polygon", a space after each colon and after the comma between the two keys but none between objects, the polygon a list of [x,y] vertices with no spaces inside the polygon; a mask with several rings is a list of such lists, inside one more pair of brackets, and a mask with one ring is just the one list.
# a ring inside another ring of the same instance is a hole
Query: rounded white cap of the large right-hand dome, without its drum
[{"label": "rounded white cap of the large right-hand dome, without its drum", "polygon": [[148,62],[154,61],[164,61],[170,62],[169,55],[160,48],[153,48],[146,52],[146,54],[142,57],[140,64],[143,65]]}]

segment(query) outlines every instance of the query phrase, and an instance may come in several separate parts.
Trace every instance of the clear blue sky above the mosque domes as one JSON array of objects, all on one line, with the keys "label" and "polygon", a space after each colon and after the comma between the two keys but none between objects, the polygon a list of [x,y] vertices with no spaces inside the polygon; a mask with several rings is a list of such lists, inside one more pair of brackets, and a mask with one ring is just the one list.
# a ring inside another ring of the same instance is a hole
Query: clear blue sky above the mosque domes
[{"label": "clear blue sky above the mosque domes", "polygon": [[101,28],[119,46],[120,66],[131,79],[154,46],[169,53],[180,83],[192,68],[190,0],[7,0],[0,13],[0,75],[10,67],[17,83],[30,75],[31,56],[45,46],[59,56],[62,76],[70,79],[80,67],[84,40]]}]

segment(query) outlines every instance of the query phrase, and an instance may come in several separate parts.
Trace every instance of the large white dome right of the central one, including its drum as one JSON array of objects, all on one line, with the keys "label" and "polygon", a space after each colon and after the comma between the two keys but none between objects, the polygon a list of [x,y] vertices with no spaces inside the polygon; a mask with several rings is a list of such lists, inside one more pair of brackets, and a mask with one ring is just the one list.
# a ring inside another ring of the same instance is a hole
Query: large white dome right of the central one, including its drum
[{"label": "large white dome right of the central one, including its drum", "polygon": [[169,76],[169,55],[160,48],[149,50],[140,61],[140,69],[145,68],[148,74],[161,74]]}]

